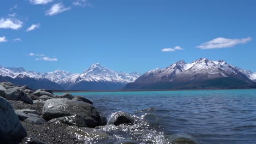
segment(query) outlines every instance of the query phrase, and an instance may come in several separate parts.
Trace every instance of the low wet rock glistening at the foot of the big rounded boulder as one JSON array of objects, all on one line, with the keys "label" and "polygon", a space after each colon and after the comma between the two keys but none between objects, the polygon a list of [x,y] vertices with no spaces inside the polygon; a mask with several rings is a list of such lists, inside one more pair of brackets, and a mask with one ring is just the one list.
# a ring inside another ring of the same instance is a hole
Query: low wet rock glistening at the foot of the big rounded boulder
[{"label": "low wet rock glistening at the foot of the big rounded boulder", "polygon": [[85,120],[78,115],[54,118],[49,121],[49,123],[56,123],[56,122],[62,122],[67,125],[77,125],[78,127],[87,127]]}]

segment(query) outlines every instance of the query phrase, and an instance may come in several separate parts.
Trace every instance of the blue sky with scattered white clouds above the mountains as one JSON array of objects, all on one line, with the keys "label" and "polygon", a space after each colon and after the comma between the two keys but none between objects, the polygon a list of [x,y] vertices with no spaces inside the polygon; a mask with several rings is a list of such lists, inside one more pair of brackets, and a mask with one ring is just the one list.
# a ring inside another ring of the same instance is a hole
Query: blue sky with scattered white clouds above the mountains
[{"label": "blue sky with scattered white clouds above the mountains", "polygon": [[4,0],[0,65],[81,73],[91,64],[145,73],[184,59],[256,72],[254,0]]}]

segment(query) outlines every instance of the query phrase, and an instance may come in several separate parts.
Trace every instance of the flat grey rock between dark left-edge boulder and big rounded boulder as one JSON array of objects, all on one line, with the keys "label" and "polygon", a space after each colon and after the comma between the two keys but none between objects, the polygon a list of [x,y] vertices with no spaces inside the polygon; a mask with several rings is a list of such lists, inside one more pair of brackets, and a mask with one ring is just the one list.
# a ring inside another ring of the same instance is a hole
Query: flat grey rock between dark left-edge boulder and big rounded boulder
[{"label": "flat grey rock between dark left-edge boulder and big rounded boulder", "polygon": [[17,110],[15,113],[18,115],[20,121],[24,121],[32,124],[44,124],[46,121],[39,115],[33,113],[25,113],[22,110]]}]

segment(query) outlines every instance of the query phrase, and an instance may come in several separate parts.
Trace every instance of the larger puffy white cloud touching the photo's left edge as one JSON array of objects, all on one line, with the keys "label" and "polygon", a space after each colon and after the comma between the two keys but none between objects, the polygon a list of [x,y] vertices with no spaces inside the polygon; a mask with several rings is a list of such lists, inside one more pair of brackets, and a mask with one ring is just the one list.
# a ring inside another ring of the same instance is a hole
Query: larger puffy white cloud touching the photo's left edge
[{"label": "larger puffy white cloud touching the photo's left edge", "polygon": [[19,19],[4,19],[1,18],[0,20],[0,28],[10,28],[10,29],[19,29],[23,25],[23,22],[21,22]]}]

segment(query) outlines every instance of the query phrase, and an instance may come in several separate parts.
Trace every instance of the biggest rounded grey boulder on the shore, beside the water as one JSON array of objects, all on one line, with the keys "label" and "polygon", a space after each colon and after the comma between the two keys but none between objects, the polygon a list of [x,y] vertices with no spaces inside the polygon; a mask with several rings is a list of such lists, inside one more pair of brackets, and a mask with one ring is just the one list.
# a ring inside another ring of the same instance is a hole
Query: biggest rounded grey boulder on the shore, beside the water
[{"label": "biggest rounded grey boulder on the shore, beside the water", "polygon": [[102,121],[100,112],[88,103],[77,100],[49,99],[45,101],[42,116],[46,121],[53,118],[78,115],[82,117],[86,125],[90,128],[95,128],[98,125],[106,125]]}]

